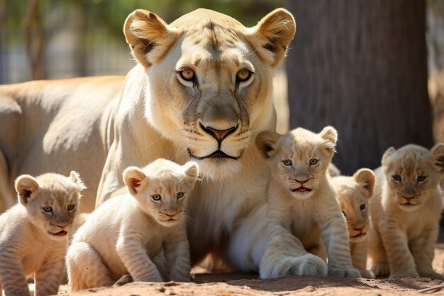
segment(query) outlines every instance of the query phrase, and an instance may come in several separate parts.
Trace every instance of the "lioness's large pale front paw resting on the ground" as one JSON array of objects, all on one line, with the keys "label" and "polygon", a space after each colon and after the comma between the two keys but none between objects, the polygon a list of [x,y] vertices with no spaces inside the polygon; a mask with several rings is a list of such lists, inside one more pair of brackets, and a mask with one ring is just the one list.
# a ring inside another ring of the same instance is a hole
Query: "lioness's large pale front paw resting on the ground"
[{"label": "lioness's large pale front paw resting on the ground", "polygon": [[287,275],[325,277],[327,264],[318,256],[305,254],[300,257],[280,258],[278,262],[263,260],[260,264],[260,278],[284,278]]}]

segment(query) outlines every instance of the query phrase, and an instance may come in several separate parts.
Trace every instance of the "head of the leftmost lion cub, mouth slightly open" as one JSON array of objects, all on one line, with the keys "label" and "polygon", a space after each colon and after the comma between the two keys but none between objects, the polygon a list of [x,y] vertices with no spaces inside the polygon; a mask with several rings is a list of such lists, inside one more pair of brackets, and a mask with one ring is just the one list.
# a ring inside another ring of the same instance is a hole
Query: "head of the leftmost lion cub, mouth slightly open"
[{"label": "head of the leftmost lion cub, mouth slightly open", "polygon": [[85,188],[74,171],[70,177],[47,173],[21,175],[16,180],[18,202],[26,207],[31,223],[55,240],[67,238]]}]

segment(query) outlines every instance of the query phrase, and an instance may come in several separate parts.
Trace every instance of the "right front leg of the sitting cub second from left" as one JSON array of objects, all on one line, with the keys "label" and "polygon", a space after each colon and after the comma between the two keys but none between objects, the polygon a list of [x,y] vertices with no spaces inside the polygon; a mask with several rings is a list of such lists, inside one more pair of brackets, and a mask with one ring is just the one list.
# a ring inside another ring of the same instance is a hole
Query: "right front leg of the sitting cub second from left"
[{"label": "right front leg of the sitting cub second from left", "polygon": [[185,234],[172,237],[165,244],[165,258],[167,268],[170,270],[170,280],[189,282],[189,243]]}]

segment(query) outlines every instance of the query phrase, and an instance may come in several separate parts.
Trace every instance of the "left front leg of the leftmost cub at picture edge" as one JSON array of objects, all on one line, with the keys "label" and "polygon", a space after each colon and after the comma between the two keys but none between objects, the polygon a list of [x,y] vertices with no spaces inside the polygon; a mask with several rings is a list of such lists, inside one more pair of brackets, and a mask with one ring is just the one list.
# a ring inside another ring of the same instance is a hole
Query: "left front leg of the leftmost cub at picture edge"
[{"label": "left front leg of the leftmost cub at picture edge", "polygon": [[0,286],[3,285],[6,296],[29,296],[28,281],[23,273],[23,265],[13,252],[0,253],[0,283]]}]

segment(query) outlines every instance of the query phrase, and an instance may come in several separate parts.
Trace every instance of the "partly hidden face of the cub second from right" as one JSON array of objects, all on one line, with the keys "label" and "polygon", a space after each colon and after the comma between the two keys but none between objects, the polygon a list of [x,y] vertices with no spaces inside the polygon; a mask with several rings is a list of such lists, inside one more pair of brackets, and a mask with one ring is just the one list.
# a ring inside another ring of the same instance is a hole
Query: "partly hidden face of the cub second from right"
[{"label": "partly hidden face of the cub second from right", "polygon": [[345,216],[350,241],[366,239],[370,225],[368,203],[374,193],[374,172],[362,168],[353,177],[333,177],[330,183]]}]

